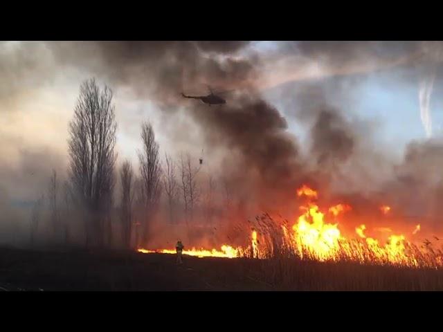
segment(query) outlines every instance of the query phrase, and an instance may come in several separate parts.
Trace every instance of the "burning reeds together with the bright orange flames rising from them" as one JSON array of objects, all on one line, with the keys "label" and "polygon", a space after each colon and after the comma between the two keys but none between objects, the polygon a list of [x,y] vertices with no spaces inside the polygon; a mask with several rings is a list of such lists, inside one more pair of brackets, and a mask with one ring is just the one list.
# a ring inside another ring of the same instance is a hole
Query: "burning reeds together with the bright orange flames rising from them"
[{"label": "burning reeds together with the bright orange flames rising from them", "polygon": [[[408,241],[405,234],[390,234],[386,243],[368,237],[364,224],[355,228],[354,237],[341,232],[338,216],[352,210],[350,205],[337,204],[320,210],[318,193],[303,185],[297,194],[305,203],[295,223],[275,220],[269,214],[257,217],[253,223],[248,245],[234,248],[223,244],[221,250],[192,248],[183,252],[197,257],[250,257],[256,259],[299,259],[304,261],[344,262],[369,266],[403,266],[408,268],[442,268],[443,252],[434,249],[430,241],[424,246]],[[383,214],[392,213],[388,205],[380,208]],[[341,220],[341,219],[340,219]],[[331,222],[332,221],[332,222]],[[385,229],[385,228],[383,228]],[[386,228],[387,229],[387,228]],[[411,234],[421,230],[417,225]],[[172,249],[140,252],[173,253]]]}]

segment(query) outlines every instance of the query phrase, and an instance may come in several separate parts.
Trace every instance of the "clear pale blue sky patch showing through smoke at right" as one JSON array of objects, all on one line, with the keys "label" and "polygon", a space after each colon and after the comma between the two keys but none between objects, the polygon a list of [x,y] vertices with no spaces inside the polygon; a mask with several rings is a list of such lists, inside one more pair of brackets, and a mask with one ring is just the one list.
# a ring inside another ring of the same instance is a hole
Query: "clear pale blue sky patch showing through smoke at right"
[{"label": "clear pale blue sky patch showing through smoke at right", "polygon": [[[281,42],[257,42],[254,47],[266,53],[278,50],[278,44]],[[405,80],[406,75],[408,77]],[[426,130],[420,119],[419,79],[419,72],[415,68],[409,72],[404,68],[387,68],[363,75],[343,75],[338,77],[334,84],[345,86],[346,93],[344,96],[338,95],[340,100],[335,100],[335,102],[343,104],[344,97],[349,100],[349,107],[352,108],[348,111],[359,114],[361,118],[379,120],[381,122],[379,134],[382,140],[397,145],[402,153],[411,140],[426,139]],[[328,78],[312,80],[318,81],[318,84],[327,84]],[[309,79],[307,81],[309,82]],[[303,83],[305,82],[294,80],[292,86],[296,89],[297,85]],[[273,104],[279,105],[282,112],[285,112],[291,106],[285,106],[284,102],[279,100],[278,92],[282,85],[284,84],[278,85],[273,89],[275,90],[273,93],[267,93],[266,96]],[[442,88],[443,77],[437,77],[430,105],[434,136],[438,136],[439,131],[443,129],[443,112],[441,111],[443,100],[442,93],[439,93]],[[331,91],[329,100],[334,102],[334,99],[334,91]],[[354,100],[351,101],[352,99]],[[302,133],[302,128],[297,126],[296,121],[291,122],[289,130],[298,135]]]}]

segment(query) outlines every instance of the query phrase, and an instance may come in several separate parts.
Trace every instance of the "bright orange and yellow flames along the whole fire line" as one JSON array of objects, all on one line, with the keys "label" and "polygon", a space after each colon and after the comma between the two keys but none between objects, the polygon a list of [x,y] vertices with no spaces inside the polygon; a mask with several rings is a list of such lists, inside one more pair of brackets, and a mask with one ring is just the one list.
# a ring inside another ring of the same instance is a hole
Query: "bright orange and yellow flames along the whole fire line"
[{"label": "bright orange and yellow flames along the whole fire line", "polygon": [[[328,222],[327,216],[337,221],[335,217],[347,210],[351,210],[349,205],[338,204],[328,208],[325,214],[314,203],[317,198],[317,192],[303,185],[297,190],[298,196],[307,196],[308,203],[300,206],[301,214],[293,225],[282,225],[282,248],[287,248],[293,252],[296,257],[301,259],[316,259],[318,261],[356,261],[361,264],[395,264],[410,267],[429,266],[443,267],[443,260],[435,256],[428,259],[426,253],[420,252],[417,246],[408,242],[404,234],[390,234],[388,241],[383,245],[379,239],[368,237],[365,234],[366,226],[364,224],[355,228],[358,237],[347,238],[339,229],[338,223]],[[390,207],[383,205],[381,207],[383,214],[390,211]],[[331,216],[332,214],[332,216]],[[379,232],[392,232],[390,228],[374,228]],[[420,230],[420,225],[415,227],[413,234]],[[226,257],[235,258],[247,255],[247,257],[266,258],[273,255],[273,247],[269,241],[259,243],[257,240],[257,231],[252,230],[250,243],[244,250],[241,247],[233,248],[224,244],[221,250],[183,250],[183,255],[197,257]],[[275,234],[269,234],[269,237],[275,239]],[[260,231],[260,238],[266,240],[266,230]],[[414,251],[415,250],[415,251]],[[175,253],[175,250],[145,250],[138,249],[139,252],[163,252]],[[271,253],[269,255],[269,253]]]}]

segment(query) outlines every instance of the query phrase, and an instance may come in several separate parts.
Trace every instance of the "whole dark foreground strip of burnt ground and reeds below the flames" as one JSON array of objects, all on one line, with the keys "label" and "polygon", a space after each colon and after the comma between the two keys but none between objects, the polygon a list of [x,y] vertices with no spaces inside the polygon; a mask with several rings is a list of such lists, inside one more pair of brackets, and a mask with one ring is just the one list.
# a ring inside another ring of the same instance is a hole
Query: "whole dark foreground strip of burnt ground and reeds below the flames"
[{"label": "whole dark foreground strip of burnt ground and reeds below the flames", "polygon": [[0,248],[0,291],[443,291],[443,270]]}]

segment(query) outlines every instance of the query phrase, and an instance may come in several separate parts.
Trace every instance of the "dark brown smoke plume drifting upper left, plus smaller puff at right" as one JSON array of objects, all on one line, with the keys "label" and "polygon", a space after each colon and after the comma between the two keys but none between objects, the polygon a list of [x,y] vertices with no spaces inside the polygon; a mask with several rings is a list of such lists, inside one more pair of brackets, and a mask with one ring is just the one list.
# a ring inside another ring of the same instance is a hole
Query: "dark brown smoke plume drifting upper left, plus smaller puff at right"
[{"label": "dark brown smoke plume drifting upper left, plus smaller puff at right", "polygon": [[[296,113],[298,120],[310,128],[309,156],[304,158],[296,138],[287,133],[286,119],[255,89],[260,60],[241,56],[247,44],[82,42],[49,46],[59,62],[83,66],[113,84],[128,86],[136,95],[157,102],[163,110],[174,111],[185,104],[178,99],[179,93],[189,87],[195,89],[210,82],[238,89],[224,107],[208,109],[204,104],[186,103],[186,111],[200,127],[201,145],[225,152],[224,172],[233,179],[237,192],[245,196],[253,192],[255,203],[269,208],[275,201],[286,203],[293,199],[296,187],[303,182],[328,187],[334,176],[344,172],[346,164],[355,164],[356,156],[363,155],[361,142],[365,138],[357,135],[354,124],[342,111],[329,106],[323,91],[316,93],[317,98],[307,93],[301,95],[301,108]],[[384,61],[413,53],[417,47],[392,44],[383,53],[381,46],[377,42],[364,46],[340,42],[326,46],[296,44],[299,52],[327,59],[329,66],[346,64],[350,56],[359,61],[369,57]],[[90,61],[92,55],[95,61]],[[186,140],[186,133],[182,136]],[[364,160],[361,163],[366,164]]]}]

